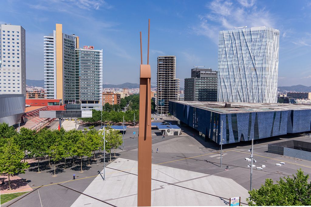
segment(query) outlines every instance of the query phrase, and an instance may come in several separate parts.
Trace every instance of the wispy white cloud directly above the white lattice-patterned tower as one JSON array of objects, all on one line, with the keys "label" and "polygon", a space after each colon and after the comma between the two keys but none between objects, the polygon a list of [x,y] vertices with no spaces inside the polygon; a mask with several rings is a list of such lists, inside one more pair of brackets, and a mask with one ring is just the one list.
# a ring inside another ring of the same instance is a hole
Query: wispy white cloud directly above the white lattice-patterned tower
[{"label": "wispy white cloud directly above the white lattice-patterned tower", "polygon": [[200,23],[193,26],[193,32],[211,38],[218,44],[218,33],[221,30],[234,29],[240,26],[275,25],[275,18],[265,8],[258,8],[255,0],[214,0],[207,4],[205,15],[199,15]]}]

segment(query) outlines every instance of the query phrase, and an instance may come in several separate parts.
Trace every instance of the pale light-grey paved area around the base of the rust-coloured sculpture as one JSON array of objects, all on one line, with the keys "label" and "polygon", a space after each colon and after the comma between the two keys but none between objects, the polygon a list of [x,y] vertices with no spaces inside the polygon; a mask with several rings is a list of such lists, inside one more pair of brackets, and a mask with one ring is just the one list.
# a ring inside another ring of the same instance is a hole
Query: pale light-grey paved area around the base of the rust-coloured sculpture
[{"label": "pale light-grey paved area around the base of the rust-coloured sculpture", "polygon": [[[152,206],[221,206],[249,196],[232,179],[173,167],[152,165],[152,179]],[[137,206],[137,161],[118,158],[107,166],[106,181],[98,175],[83,193],[72,207]]]}]

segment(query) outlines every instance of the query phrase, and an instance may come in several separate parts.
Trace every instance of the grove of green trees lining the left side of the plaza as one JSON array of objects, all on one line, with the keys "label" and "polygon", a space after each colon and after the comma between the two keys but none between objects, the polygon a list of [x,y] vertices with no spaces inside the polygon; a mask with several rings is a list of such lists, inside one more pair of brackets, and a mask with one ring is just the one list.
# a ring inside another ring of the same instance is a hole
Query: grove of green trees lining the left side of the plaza
[{"label": "grove of green trees lining the left side of the plaza", "polygon": [[[111,128],[106,129],[105,133],[105,150],[110,153],[111,150],[117,149],[122,145],[122,136],[119,131]],[[81,160],[82,172],[82,157],[89,158],[94,156],[95,151],[100,147],[103,148],[104,140],[102,131],[98,132],[93,126],[89,129],[81,130],[72,129],[65,132],[63,128],[58,130],[48,130],[46,128],[36,133],[35,130],[21,128],[20,132],[6,123],[0,124],[0,173],[8,174],[9,189],[10,176],[17,173],[25,173],[25,169],[29,167],[25,157],[34,157],[38,159],[38,172],[40,172],[39,160],[41,157],[49,157],[49,166],[51,161],[54,165],[54,176],[56,176],[56,162],[64,159],[66,168],[66,158],[77,156]],[[23,160],[23,161],[21,161]]]}]

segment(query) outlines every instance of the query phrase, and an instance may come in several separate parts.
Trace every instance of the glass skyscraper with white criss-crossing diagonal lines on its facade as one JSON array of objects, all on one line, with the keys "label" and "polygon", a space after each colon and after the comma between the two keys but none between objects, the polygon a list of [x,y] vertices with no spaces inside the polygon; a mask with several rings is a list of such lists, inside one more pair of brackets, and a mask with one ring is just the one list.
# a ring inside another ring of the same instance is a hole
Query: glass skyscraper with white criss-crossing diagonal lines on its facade
[{"label": "glass skyscraper with white criss-crossing diagonal lines on its facade", "polygon": [[219,32],[218,101],[277,102],[279,37],[265,26]]}]

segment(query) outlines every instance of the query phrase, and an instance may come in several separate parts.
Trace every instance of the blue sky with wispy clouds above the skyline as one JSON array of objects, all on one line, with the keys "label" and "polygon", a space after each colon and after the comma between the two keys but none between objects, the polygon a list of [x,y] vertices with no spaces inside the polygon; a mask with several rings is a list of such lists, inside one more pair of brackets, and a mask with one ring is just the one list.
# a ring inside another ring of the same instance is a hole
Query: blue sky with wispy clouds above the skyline
[{"label": "blue sky with wispy clouds above the skyline", "polygon": [[151,82],[158,55],[176,55],[177,78],[190,77],[193,65],[217,70],[218,32],[239,26],[280,30],[279,86],[311,85],[310,1],[103,1],[2,0],[1,23],[26,29],[26,77],[44,79],[43,36],[55,23],[80,37],[80,46],[103,49],[104,83],[139,83],[139,31],[146,64],[148,18]]}]

